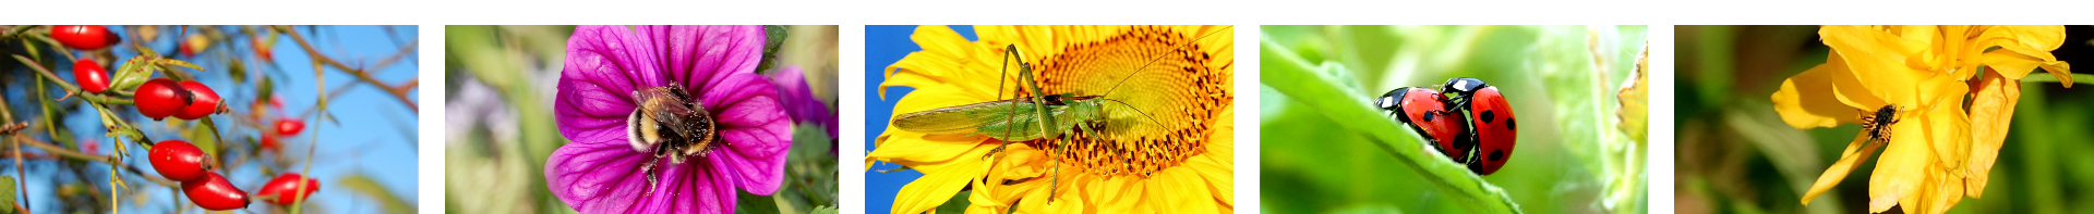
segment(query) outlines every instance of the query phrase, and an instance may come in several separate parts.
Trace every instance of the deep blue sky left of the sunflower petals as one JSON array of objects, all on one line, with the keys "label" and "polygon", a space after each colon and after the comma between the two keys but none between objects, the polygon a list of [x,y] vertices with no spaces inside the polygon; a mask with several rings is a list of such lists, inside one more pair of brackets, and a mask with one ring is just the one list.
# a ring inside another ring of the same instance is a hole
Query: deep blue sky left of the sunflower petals
[{"label": "deep blue sky left of the sunflower petals", "polygon": [[[879,81],[886,81],[884,73],[888,64],[903,60],[903,56],[909,56],[909,52],[923,50],[921,46],[909,39],[909,33],[915,33],[915,29],[917,29],[915,25],[865,27],[865,73],[863,73],[865,137],[861,139],[865,141],[867,150],[873,148],[873,137],[879,137],[879,133],[888,129],[888,116],[894,114],[894,102],[907,96],[909,91],[915,91],[913,87],[888,87],[888,98],[892,100],[879,100]],[[976,39],[974,27],[955,25],[953,31],[959,31],[959,35],[967,37],[970,42]],[[900,164],[888,164],[888,162],[873,164],[873,170],[884,170],[884,168],[900,168]],[[884,214],[892,210],[894,193],[898,193],[903,185],[909,185],[909,181],[915,181],[919,177],[923,177],[923,172],[917,170],[865,172],[865,212]]]}]

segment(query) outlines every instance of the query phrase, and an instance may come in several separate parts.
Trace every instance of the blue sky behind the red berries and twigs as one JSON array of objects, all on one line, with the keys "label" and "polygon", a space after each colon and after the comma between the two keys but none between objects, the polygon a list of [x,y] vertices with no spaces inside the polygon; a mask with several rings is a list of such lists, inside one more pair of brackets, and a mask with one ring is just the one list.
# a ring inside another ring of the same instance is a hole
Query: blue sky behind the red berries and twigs
[{"label": "blue sky behind the red berries and twigs", "polygon": [[[115,33],[121,33],[121,35],[130,35],[132,33],[132,31],[124,31],[117,25],[109,25],[109,29],[115,31]],[[335,27],[318,27],[318,29],[320,31],[314,33],[314,31],[306,31],[306,27],[297,27],[297,31],[304,33],[304,37],[308,42],[314,42],[314,46],[322,54],[327,54],[327,56],[331,56],[331,58],[335,58],[335,60],[339,60],[343,64],[350,64],[350,66],[371,64],[371,62],[383,60],[385,56],[396,54],[398,48],[406,46],[413,39],[419,39],[419,35],[421,35],[421,27],[417,27],[417,25],[394,27],[396,31],[392,35],[387,35],[387,31],[381,29],[381,27],[377,27],[377,25],[335,25]],[[144,46],[155,48],[155,50],[172,50],[174,48],[174,39],[176,39],[174,33],[180,33],[180,31],[182,31],[180,27],[161,25],[161,35],[157,39],[147,42]],[[197,31],[191,29],[191,33],[197,33]],[[394,39],[389,39],[389,37],[398,37],[398,44]],[[232,79],[224,71],[224,69],[228,69],[228,64],[226,64],[228,58],[258,60],[258,58],[249,56],[251,44],[247,44],[247,42],[249,39],[245,35],[239,35],[230,44],[211,44],[209,50],[205,50],[205,54],[199,54],[197,58],[182,58],[182,60],[188,60],[188,62],[195,62],[195,64],[203,66],[205,71],[199,73],[201,75],[199,81],[205,83],[205,85],[211,85],[214,91],[218,91],[222,98],[228,100],[226,104],[230,104],[230,106],[253,104],[253,100],[255,100],[255,91],[251,91],[253,87],[249,87],[249,85],[235,85]],[[119,44],[119,46],[130,46],[130,44],[132,44],[130,37],[126,37],[126,42]],[[276,46],[272,46],[272,52],[274,52],[274,58],[276,58],[276,66],[249,64],[249,73],[268,73],[268,75],[272,75],[279,81],[276,83],[276,93],[285,98],[285,102],[283,102],[283,110],[285,112],[283,114],[297,114],[297,112],[306,112],[308,108],[314,108],[314,102],[318,100],[318,91],[314,87],[316,79],[314,79],[314,73],[312,73],[312,64],[308,60],[308,54],[295,42],[291,42],[289,35],[281,35],[276,39]],[[389,85],[398,85],[398,83],[404,83],[408,79],[417,79],[417,75],[421,75],[419,60],[415,60],[415,58],[421,58],[419,52],[421,50],[417,48],[415,54],[402,58],[400,62],[394,62],[392,66],[383,66],[383,69],[373,69],[371,73],[375,73],[373,75],[375,79],[379,79],[383,83],[389,83]],[[115,48],[115,56],[117,58],[130,58],[130,56],[138,56],[138,52],[132,52],[130,48]],[[71,71],[71,66],[67,62],[65,66],[61,66],[61,71],[54,71],[54,73],[61,73],[61,77],[71,79],[71,75],[65,75],[69,71]],[[195,71],[191,71],[191,73],[195,73]],[[410,110],[404,104],[400,104],[398,98],[392,98],[389,93],[385,93],[383,89],[377,89],[377,87],[371,87],[371,85],[343,87],[343,85],[356,81],[356,77],[350,75],[350,73],[343,73],[343,71],[337,71],[337,69],[329,66],[327,73],[322,73],[322,75],[327,75],[327,91],[348,89],[343,96],[329,100],[329,104],[331,104],[329,110],[333,110],[335,116],[341,118],[339,125],[335,125],[335,123],[320,123],[320,121],[314,121],[314,118],[304,118],[306,121],[306,131],[302,131],[297,137],[283,139],[285,141],[285,152],[289,156],[304,158],[308,145],[314,145],[312,143],[314,135],[316,133],[320,135],[320,139],[316,143],[318,145],[316,154],[312,156],[312,160],[314,160],[312,162],[312,172],[308,175],[308,177],[320,179],[320,191],[314,193],[312,195],[314,199],[310,202],[310,204],[318,204],[318,206],[310,206],[310,208],[325,208],[325,212],[329,212],[329,214],[377,214],[377,212],[383,212],[383,210],[379,210],[377,202],[373,202],[369,197],[362,197],[358,193],[352,193],[352,191],[343,189],[337,183],[337,179],[348,177],[348,175],[371,177],[379,185],[385,185],[385,189],[389,189],[392,193],[400,195],[402,199],[413,202],[413,204],[421,204],[421,193],[423,193],[421,191],[421,156],[415,150],[415,145],[419,143],[419,137],[421,137],[421,116],[415,110]],[[415,100],[417,106],[421,106],[421,89],[417,87],[417,89],[413,89],[408,93],[410,93],[408,100]],[[17,112],[27,112],[27,110],[21,110],[21,106],[25,106],[25,104],[17,102],[15,106],[17,106]],[[121,108],[130,108],[130,106],[121,106]],[[241,110],[241,108],[237,108],[237,110]],[[163,123],[149,123],[151,118],[136,116],[134,110],[126,110],[126,112],[130,112],[126,121],[132,121],[134,125],[142,123],[140,129],[144,129],[149,137],[161,139],[161,141],[165,141],[165,139],[180,139],[180,135],[172,133]],[[117,112],[117,114],[126,114],[126,112]],[[220,123],[220,127],[232,127],[232,125],[226,125],[226,123],[235,123],[232,116],[228,116],[228,114],[216,114],[214,118]],[[94,114],[71,114],[71,116],[65,116],[63,123],[69,129],[73,129],[73,131],[77,131],[82,135],[98,135],[98,133],[103,133],[101,121]],[[220,129],[220,135],[226,135],[228,141],[232,141],[230,137],[255,135],[255,131],[253,129]],[[115,139],[111,139],[111,137],[96,137],[94,139],[94,143],[98,143],[103,148],[101,154],[109,154],[107,150],[113,148],[111,145],[113,141]],[[140,148],[130,148],[130,152],[144,154],[144,150],[140,150]],[[140,170],[149,170],[151,172],[151,164],[147,164],[142,156],[132,156],[132,158],[126,160],[126,164],[132,164],[132,166],[138,166]],[[297,164],[297,166],[304,166],[304,164]],[[107,164],[90,164],[88,170],[92,170],[92,168],[103,168],[101,172],[107,172],[109,166]],[[289,168],[289,170],[295,172],[299,168]],[[13,175],[13,172],[8,172],[8,175]],[[132,177],[130,179],[132,181],[130,187],[142,189],[142,193],[149,193],[151,202],[144,204],[144,206],[138,206],[138,204],[130,204],[130,199],[124,199],[126,206],[119,212],[134,212],[134,214],[136,212],[142,212],[142,214],[165,214],[165,212],[172,212],[170,204],[161,202],[161,199],[170,199],[170,193],[168,193],[165,187],[140,187],[136,175],[132,175],[132,172],[124,172],[124,175]],[[52,183],[54,179],[50,179],[50,177],[67,177],[67,179],[57,179],[57,181],[73,181],[73,179],[69,179],[71,177],[69,170],[57,170],[48,162],[44,166],[29,166],[27,177],[29,177],[27,179],[27,183],[29,183],[27,185],[29,187],[29,195],[52,195],[52,189],[57,187],[57,183]],[[94,175],[90,175],[90,177],[94,177]],[[107,181],[107,175],[98,175],[98,179]],[[255,168],[253,164],[247,164],[247,166],[235,168],[228,175],[228,179],[239,189],[245,189],[245,191],[253,193],[270,177],[264,177],[260,168]],[[96,181],[96,179],[90,179],[90,181]],[[103,189],[103,191],[105,191],[105,197],[107,197],[107,189]],[[57,212],[57,208],[61,206],[61,204],[57,204],[57,199],[50,199],[50,197],[31,197],[31,202],[34,204],[25,204],[25,206],[29,206],[36,212]],[[182,204],[182,206],[186,206],[186,204]],[[255,204],[249,206],[249,212],[264,212],[262,208],[268,208],[268,206],[264,206],[262,202],[255,202]],[[423,206],[423,208],[427,208],[427,206]]]}]

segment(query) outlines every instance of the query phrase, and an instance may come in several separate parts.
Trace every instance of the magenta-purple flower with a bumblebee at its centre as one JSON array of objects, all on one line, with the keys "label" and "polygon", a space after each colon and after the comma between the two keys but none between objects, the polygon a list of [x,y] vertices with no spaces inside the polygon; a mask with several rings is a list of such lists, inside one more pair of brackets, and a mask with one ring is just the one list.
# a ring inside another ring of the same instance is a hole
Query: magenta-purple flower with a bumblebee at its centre
[{"label": "magenta-purple flower with a bumblebee at its centre", "polygon": [[[553,104],[559,133],[574,143],[547,160],[547,189],[582,214],[729,214],[735,189],[775,193],[792,121],[771,81],[752,73],[762,48],[764,27],[574,29]],[[718,131],[716,150],[683,164],[626,141],[632,91],[670,83],[704,104]],[[655,162],[651,189],[647,160]]]}]

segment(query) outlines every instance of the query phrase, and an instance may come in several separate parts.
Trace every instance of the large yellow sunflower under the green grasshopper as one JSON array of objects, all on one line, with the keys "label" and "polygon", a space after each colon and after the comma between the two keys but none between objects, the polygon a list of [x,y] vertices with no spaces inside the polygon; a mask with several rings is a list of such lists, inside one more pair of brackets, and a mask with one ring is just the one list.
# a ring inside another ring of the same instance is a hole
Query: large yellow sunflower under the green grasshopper
[{"label": "large yellow sunflower under the green grasshopper", "polygon": [[[982,42],[949,27],[917,27],[911,39],[923,52],[888,66],[882,98],[890,85],[915,87],[894,104],[896,114],[909,114],[1030,93],[1016,75],[999,73],[1005,46],[1016,44],[1022,58],[1011,58],[1007,73],[1018,71],[1018,60],[1032,64],[1041,91],[1106,96],[1133,108],[1106,104],[1106,123],[1089,125],[1095,133],[1070,129],[1064,135],[1072,141],[1009,141],[1001,156],[988,154],[1005,141],[986,135],[926,135],[890,123],[865,164],[894,162],[923,172],[896,193],[890,212],[926,212],[961,189],[974,189],[967,212],[1235,210],[1233,29],[978,27],[976,33]],[[1127,85],[1114,89],[1122,79]]]}]

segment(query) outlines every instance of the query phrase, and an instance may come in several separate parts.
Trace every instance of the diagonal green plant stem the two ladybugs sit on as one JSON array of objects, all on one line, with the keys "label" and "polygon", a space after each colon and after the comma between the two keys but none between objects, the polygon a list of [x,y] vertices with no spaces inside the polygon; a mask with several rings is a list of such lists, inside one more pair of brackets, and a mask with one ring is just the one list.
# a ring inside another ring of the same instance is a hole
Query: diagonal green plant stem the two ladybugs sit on
[{"label": "diagonal green plant stem the two ladybugs sit on", "polygon": [[[1302,62],[1300,56],[1288,50],[1290,48],[1273,44],[1271,37],[1267,37],[1263,31],[1258,33],[1258,64],[1261,64],[1258,69],[1263,69],[1258,73],[1258,83],[1271,85],[1273,89],[1286,96],[1298,98],[1296,102],[1315,108],[1315,112],[1323,112],[1323,116],[1330,116],[1334,123],[1351,129],[1353,133],[1361,133],[1367,135],[1369,139],[1376,139],[1376,145],[1386,150],[1397,160],[1403,160],[1403,164],[1409,166],[1413,172],[1424,175],[1426,181],[1436,185],[1441,191],[1460,197],[1455,202],[1464,202],[1462,206],[1466,206],[1470,212],[1480,212],[1480,214],[1520,212],[1520,204],[1514,204],[1503,189],[1491,185],[1489,181],[1483,181],[1483,177],[1476,177],[1460,162],[1441,158],[1439,152],[1432,152],[1428,145],[1418,143],[1422,141],[1418,133],[1403,129],[1395,121],[1359,121],[1359,118],[1382,118],[1380,110],[1374,110],[1372,104],[1367,104],[1369,93],[1357,87],[1342,87],[1349,85],[1344,81],[1351,79],[1332,77],[1342,73],[1313,69],[1309,62]],[[1357,100],[1330,100],[1330,98],[1357,98]]]}]

